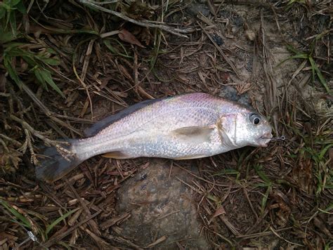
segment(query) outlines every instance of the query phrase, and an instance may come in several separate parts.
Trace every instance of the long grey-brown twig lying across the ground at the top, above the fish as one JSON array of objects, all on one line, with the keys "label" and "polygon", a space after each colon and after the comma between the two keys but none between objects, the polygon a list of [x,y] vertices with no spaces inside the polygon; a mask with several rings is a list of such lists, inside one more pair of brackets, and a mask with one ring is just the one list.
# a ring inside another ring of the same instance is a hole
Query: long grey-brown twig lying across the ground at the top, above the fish
[{"label": "long grey-brown twig lying across the ground at the top, above the fish", "polygon": [[171,34],[175,34],[178,37],[188,38],[188,36],[186,36],[185,34],[181,34],[181,33],[191,33],[191,32],[194,32],[194,29],[177,29],[177,28],[174,28],[174,27],[166,26],[166,25],[158,25],[158,24],[149,22],[148,20],[143,20],[143,21],[139,22],[137,20],[134,20],[132,18],[127,17],[126,15],[123,15],[122,13],[119,13],[117,11],[111,11],[111,10],[109,10],[107,8],[104,8],[104,7],[96,4],[95,1],[79,0],[79,2],[81,4],[89,6],[91,8],[97,8],[100,11],[104,11],[106,13],[115,15],[118,18],[122,18],[123,20],[126,20],[128,22],[132,22],[135,25],[139,25],[139,26],[142,26],[142,27],[150,27],[150,28],[162,29],[162,30],[164,30],[166,32],[169,32]]}]

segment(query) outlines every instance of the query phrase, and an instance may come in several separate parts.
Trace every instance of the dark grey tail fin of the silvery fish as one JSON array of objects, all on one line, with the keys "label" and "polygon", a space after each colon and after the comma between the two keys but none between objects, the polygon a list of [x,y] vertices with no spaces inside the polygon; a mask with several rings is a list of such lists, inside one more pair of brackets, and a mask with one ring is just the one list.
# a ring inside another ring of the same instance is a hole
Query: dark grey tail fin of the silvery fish
[{"label": "dark grey tail fin of the silvery fish", "polygon": [[[72,145],[74,140],[66,141]],[[71,146],[61,145],[61,147],[64,147],[65,150],[72,151]],[[83,162],[81,159],[77,158],[76,154],[63,156],[56,147],[41,148],[40,154],[43,158],[39,159],[39,164],[36,166],[36,177],[47,183],[52,183],[53,181],[62,178]]]}]

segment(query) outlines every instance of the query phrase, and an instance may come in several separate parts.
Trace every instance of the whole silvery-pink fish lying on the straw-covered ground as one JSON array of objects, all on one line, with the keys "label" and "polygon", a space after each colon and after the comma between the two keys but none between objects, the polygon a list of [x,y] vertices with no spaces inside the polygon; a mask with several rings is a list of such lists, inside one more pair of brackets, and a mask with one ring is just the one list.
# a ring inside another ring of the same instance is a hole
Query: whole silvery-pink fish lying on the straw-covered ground
[{"label": "whole silvery-pink fish lying on the straw-covered ground", "polygon": [[85,138],[45,147],[35,168],[37,179],[52,183],[86,159],[159,157],[196,159],[244,146],[267,147],[268,119],[252,108],[208,93],[185,93],[145,100],[84,131]]}]

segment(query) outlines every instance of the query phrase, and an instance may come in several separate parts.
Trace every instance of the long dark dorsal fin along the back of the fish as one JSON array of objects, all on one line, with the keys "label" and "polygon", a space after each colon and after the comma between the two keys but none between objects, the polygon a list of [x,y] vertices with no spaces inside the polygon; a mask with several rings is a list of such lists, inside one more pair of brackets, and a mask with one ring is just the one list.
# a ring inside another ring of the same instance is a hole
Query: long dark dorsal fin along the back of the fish
[{"label": "long dark dorsal fin along the back of the fish", "polygon": [[[167,97],[167,98],[169,98],[169,97]],[[114,122],[119,121],[120,119],[126,117],[129,114],[132,114],[133,112],[141,110],[143,107],[147,107],[148,105],[152,105],[153,103],[157,103],[160,100],[164,100],[164,99],[166,99],[166,98],[144,100],[141,103],[136,103],[135,105],[127,107],[126,109],[117,112],[117,114],[112,114],[112,115],[110,115],[110,117],[105,117],[104,119],[97,121],[96,124],[93,124],[91,127],[84,129],[84,135],[87,137],[95,136],[99,131],[101,131],[102,129],[105,129],[110,124],[113,124]]]}]

